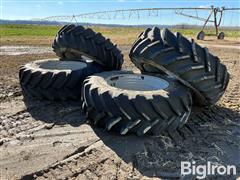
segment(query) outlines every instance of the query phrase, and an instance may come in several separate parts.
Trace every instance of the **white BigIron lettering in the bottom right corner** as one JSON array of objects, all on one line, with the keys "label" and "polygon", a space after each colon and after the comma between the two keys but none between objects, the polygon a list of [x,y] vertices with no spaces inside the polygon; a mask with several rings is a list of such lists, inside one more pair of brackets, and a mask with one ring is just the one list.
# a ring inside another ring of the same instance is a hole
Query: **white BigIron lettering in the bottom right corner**
[{"label": "white BigIron lettering in the bottom right corner", "polygon": [[204,179],[208,175],[236,175],[236,171],[234,165],[215,165],[209,161],[205,165],[196,165],[195,161],[181,162],[181,175],[196,175],[198,179]]}]

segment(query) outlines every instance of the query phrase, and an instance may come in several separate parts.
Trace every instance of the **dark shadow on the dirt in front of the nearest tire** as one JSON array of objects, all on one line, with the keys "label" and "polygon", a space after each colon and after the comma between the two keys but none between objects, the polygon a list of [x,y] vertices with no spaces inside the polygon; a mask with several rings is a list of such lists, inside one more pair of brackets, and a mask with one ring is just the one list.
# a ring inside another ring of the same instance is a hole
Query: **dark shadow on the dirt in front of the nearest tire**
[{"label": "dark shadow on the dirt in front of the nearest tire", "polygon": [[[181,161],[235,165],[240,174],[240,114],[214,106],[192,115],[177,132],[159,137],[118,136],[94,129],[103,143],[147,177],[180,178]],[[236,176],[235,176],[236,177]],[[186,177],[189,179],[191,177]],[[195,178],[195,177],[192,177]],[[214,176],[213,179],[231,177]]]}]

